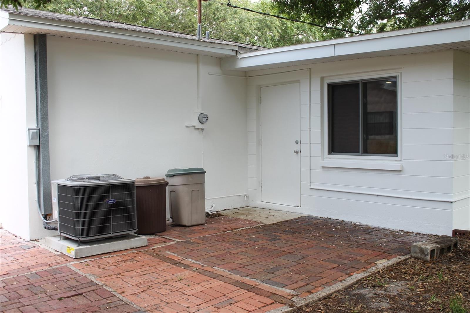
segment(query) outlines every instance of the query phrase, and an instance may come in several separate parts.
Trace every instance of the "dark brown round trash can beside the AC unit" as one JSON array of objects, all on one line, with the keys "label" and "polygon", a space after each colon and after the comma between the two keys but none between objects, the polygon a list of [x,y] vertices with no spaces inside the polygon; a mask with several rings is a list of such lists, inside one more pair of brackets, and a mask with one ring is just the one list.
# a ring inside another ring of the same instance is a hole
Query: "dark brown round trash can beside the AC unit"
[{"label": "dark brown round trash can beside the AC unit", "polygon": [[135,198],[137,234],[150,235],[166,230],[166,186],[164,178],[137,178]]}]

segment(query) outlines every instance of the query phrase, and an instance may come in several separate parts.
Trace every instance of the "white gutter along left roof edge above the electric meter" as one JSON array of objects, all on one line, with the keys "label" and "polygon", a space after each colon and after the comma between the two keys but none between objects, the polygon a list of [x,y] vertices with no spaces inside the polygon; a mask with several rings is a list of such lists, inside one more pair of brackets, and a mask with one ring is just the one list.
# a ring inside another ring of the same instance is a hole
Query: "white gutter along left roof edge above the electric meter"
[{"label": "white gutter along left roof edge above the electric meter", "polygon": [[[5,19],[8,21],[8,23],[5,23]],[[177,38],[141,31],[54,20],[44,17],[28,16],[0,11],[0,31],[8,31],[9,26],[20,26],[34,29],[33,31],[28,31],[28,33],[41,33],[44,30],[64,31],[76,34],[86,34],[106,38],[152,43],[166,47],[192,49],[201,52],[206,51],[219,53],[226,56],[235,55],[235,51],[237,49],[237,46],[224,45],[203,40]]]}]

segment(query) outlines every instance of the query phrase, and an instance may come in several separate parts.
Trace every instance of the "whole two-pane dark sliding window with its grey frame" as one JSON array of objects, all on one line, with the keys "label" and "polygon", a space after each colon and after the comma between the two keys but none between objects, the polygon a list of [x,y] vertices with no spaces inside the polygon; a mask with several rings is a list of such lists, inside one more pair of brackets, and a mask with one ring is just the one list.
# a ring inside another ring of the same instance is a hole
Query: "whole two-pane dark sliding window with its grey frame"
[{"label": "whole two-pane dark sliding window with its grey frame", "polygon": [[328,153],[397,155],[397,77],[328,84]]}]

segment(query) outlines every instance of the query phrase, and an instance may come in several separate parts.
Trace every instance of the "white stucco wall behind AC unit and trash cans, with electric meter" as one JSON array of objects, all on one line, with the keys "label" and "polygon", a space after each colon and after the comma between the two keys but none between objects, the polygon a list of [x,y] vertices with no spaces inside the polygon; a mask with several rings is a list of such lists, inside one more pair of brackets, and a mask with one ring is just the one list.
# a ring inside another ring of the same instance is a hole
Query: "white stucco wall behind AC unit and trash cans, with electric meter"
[{"label": "white stucco wall behind AC unit and trash cans, with electric meter", "polygon": [[[39,219],[35,150],[26,146],[26,128],[36,126],[33,37],[1,34],[0,42],[8,147],[0,223],[25,239],[42,238],[55,232]],[[222,72],[218,58],[201,56],[199,108],[210,117],[203,137],[185,126],[198,108],[197,55],[52,36],[47,54],[52,180],[90,172],[164,177],[173,167],[204,166],[206,197],[215,197],[206,207],[247,204],[245,79],[208,75],[244,72]]]}]

